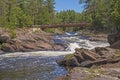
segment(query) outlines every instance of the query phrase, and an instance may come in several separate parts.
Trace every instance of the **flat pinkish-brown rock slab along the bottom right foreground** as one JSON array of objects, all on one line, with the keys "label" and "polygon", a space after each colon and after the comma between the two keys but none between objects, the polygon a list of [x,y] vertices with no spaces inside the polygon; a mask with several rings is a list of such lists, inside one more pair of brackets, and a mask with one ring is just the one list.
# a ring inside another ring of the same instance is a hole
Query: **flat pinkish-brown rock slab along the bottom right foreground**
[{"label": "flat pinkish-brown rock slab along the bottom right foreground", "polygon": [[116,69],[75,67],[70,70],[69,74],[55,80],[120,80],[117,76],[120,71],[115,71]]}]

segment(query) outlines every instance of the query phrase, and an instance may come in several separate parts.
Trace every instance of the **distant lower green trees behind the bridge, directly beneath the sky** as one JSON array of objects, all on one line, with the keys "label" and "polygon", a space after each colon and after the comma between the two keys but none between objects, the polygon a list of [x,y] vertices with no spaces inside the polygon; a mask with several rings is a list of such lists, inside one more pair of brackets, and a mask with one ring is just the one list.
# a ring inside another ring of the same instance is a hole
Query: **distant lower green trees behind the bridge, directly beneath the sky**
[{"label": "distant lower green trees behind the bridge, directly beneath the sky", "polygon": [[[72,23],[82,22],[83,18],[81,13],[77,13],[74,10],[61,11],[56,13],[56,23]],[[62,31],[75,31],[78,28],[63,28]]]}]

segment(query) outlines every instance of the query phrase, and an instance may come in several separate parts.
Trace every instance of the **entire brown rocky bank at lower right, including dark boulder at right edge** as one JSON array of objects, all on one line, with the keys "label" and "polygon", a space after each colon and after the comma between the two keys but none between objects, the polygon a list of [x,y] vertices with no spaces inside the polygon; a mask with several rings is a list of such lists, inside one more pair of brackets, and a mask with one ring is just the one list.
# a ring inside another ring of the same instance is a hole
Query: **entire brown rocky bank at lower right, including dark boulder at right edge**
[{"label": "entire brown rocky bank at lower right, including dark boulder at right edge", "polygon": [[57,61],[68,74],[55,80],[120,80],[120,35],[108,35],[109,47],[78,48]]}]

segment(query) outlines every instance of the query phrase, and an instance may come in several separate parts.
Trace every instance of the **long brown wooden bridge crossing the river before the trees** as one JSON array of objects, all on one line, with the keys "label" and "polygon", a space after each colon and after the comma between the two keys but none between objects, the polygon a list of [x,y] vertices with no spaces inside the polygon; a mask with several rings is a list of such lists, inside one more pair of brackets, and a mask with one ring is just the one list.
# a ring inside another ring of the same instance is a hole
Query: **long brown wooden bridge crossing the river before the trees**
[{"label": "long brown wooden bridge crossing the river before the trees", "polygon": [[91,23],[87,22],[76,22],[76,23],[60,23],[60,24],[48,24],[48,25],[33,25],[32,27],[45,28],[58,28],[58,27],[85,27],[90,26]]}]

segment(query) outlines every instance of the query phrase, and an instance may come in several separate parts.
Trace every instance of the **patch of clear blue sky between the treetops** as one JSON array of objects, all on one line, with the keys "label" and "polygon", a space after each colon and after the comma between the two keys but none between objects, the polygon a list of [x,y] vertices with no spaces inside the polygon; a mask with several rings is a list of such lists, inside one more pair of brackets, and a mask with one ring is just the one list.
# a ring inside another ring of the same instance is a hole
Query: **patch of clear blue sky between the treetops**
[{"label": "patch of clear blue sky between the treetops", "polygon": [[55,10],[75,10],[76,12],[83,11],[83,5],[79,4],[79,0],[55,0]]}]

